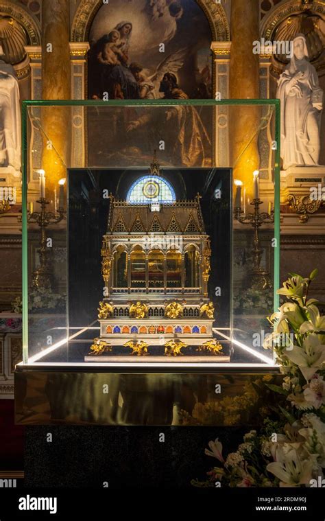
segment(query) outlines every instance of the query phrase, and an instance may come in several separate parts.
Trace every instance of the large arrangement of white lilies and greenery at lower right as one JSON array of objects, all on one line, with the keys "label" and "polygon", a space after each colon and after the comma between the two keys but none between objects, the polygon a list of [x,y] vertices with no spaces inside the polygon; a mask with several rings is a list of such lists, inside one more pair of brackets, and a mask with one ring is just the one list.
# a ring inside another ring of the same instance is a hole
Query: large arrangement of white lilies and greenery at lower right
[{"label": "large arrangement of white lilies and greenery at lower right", "polygon": [[[317,276],[295,273],[278,294],[287,298],[269,317],[272,333],[265,349],[272,349],[280,365],[282,386],[264,382],[284,400],[272,406],[261,429],[250,430],[236,452],[223,455],[219,439],[205,453],[218,465],[197,487],[317,487],[325,483],[325,316],[320,303],[309,299]],[[220,465],[221,464],[221,465]],[[321,483],[321,485],[320,485]]]}]

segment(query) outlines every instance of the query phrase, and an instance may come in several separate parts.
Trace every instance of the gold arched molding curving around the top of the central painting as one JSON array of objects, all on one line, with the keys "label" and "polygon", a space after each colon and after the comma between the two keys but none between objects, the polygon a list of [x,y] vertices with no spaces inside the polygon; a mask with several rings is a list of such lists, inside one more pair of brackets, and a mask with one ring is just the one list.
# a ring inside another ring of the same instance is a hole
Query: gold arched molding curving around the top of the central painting
[{"label": "gold arched molding curving around the top of the central painting", "polygon": [[[213,40],[230,40],[230,27],[223,6],[215,0],[196,0],[210,24]],[[71,27],[71,42],[89,40],[91,24],[103,0],[81,0]]]}]

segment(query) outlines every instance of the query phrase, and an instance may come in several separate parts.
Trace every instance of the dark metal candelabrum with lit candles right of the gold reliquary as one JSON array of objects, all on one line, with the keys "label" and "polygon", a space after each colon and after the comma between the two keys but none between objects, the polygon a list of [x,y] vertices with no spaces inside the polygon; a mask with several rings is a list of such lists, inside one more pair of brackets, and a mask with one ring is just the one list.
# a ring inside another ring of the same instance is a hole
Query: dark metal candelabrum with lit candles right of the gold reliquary
[{"label": "dark metal candelabrum with lit candles right of the gold reliquary", "polygon": [[271,288],[271,281],[269,273],[261,268],[261,258],[263,248],[260,246],[260,240],[258,238],[258,229],[261,228],[262,224],[273,224],[274,223],[274,211],[267,213],[266,211],[260,211],[260,205],[263,204],[260,198],[255,198],[250,202],[250,205],[254,207],[254,211],[250,213],[244,213],[240,208],[234,208],[234,218],[241,224],[250,224],[254,230],[254,237],[252,242],[252,257],[253,257],[253,268],[252,268],[252,286],[257,288],[265,289]]}]

